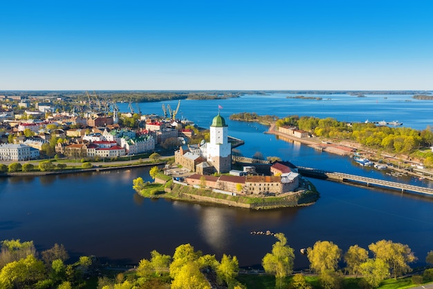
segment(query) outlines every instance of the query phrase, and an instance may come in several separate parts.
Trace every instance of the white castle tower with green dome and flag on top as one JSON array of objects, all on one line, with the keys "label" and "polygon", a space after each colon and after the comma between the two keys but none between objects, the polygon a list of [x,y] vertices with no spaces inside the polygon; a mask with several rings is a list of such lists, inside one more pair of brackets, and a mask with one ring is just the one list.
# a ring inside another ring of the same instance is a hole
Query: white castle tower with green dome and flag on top
[{"label": "white castle tower with green dome and flag on top", "polygon": [[218,173],[227,173],[232,168],[232,145],[228,142],[228,126],[222,116],[218,115],[210,125],[210,143],[208,146],[208,161]]}]

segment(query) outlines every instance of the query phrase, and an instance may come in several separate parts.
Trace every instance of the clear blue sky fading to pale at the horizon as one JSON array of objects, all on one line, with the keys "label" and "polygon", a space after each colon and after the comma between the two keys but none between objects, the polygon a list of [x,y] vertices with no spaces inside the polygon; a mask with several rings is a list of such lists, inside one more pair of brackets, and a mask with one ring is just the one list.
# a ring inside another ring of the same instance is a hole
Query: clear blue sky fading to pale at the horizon
[{"label": "clear blue sky fading to pale at the horizon", "polygon": [[431,0],[3,0],[0,90],[433,90]]}]

